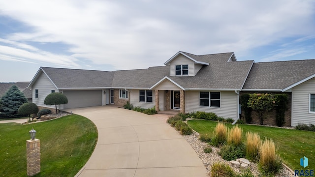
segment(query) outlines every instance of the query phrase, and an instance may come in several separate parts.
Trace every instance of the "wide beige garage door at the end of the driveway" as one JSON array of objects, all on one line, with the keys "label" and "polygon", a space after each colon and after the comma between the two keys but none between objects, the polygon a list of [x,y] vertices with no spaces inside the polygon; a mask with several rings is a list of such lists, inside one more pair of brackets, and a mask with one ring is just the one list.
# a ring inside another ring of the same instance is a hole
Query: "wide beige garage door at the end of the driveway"
[{"label": "wide beige garage door at the end of the driveway", "polygon": [[63,94],[68,98],[63,109],[102,105],[102,90],[64,90]]}]

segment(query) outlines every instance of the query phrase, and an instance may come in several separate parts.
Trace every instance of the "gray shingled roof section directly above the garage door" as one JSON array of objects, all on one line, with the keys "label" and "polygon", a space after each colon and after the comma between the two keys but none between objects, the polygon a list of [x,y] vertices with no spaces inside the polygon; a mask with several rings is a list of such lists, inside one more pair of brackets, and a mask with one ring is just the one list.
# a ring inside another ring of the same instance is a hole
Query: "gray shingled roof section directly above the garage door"
[{"label": "gray shingled roof section directly above the garage door", "polygon": [[111,87],[114,72],[41,67],[58,88]]}]

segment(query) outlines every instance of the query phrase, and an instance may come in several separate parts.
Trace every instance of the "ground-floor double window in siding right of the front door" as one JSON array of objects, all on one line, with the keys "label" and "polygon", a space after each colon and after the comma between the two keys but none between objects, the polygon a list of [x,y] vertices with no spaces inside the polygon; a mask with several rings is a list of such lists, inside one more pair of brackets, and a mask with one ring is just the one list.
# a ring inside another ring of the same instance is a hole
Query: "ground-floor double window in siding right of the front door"
[{"label": "ground-floor double window in siding right of the front door", "polygon": [[200,91],[199,106],[220,108],[221,94],[219,91]]}]

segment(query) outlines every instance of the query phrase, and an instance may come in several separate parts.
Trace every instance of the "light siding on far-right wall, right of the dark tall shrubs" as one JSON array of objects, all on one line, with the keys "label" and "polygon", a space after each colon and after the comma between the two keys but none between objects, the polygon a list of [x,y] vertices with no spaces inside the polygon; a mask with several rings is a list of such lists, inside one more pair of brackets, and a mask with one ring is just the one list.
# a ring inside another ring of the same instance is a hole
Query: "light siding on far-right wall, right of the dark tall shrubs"
[{"label": "light siding on far-right wall, right of the dark tall shrubs", "polygon": [[315,94],[315,78],[292,88],[292,126],[315,124],[315,114],[309,113],[310,93]]}]

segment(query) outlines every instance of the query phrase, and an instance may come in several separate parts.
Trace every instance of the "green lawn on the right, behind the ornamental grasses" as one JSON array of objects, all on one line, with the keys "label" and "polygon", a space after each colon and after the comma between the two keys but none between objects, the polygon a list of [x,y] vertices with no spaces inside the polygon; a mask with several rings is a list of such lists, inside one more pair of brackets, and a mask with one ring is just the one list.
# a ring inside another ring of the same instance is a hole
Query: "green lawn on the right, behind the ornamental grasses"
[{"label": "green lawn on the right, behind the ornamental grasses", "polygon": [[[211,120],[189,120],[187,123],[198,133],[212,133],[217,125],[216,121]],[[229,128],[233,126],[229,123],[226,125]],[[239,124],[239,127],[243,129],[243,139],[246,132],[252,131],[257,132],[262,139],[268,137],[274,140],[284,164],[293,171],[315,170],[315,132],[246,124]],[[303,156],[309,158],[309,166],[306,168],[300,166],[300,158]]]}]

